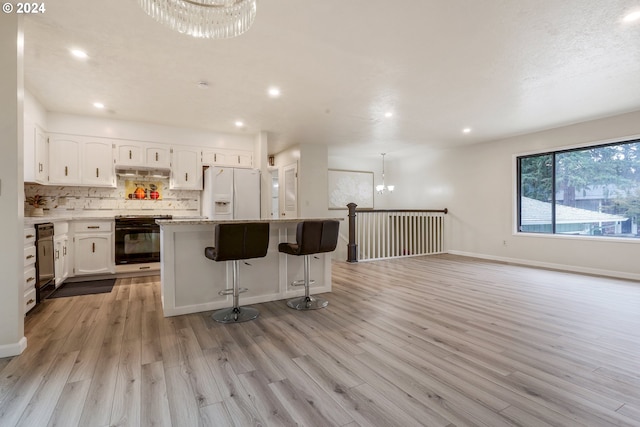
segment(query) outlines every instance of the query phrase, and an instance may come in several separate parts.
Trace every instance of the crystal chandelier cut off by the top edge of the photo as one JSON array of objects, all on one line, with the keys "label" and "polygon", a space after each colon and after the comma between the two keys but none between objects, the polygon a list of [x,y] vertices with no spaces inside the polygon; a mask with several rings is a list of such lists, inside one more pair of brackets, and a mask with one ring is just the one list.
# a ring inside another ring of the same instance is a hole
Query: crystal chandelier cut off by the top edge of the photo
[{"label": "crystal chandelier cut off by the top edge of the photo", "polygon": [[256,0],[138,0],[153,19],[179,33],[228,39],[251,27]]}]

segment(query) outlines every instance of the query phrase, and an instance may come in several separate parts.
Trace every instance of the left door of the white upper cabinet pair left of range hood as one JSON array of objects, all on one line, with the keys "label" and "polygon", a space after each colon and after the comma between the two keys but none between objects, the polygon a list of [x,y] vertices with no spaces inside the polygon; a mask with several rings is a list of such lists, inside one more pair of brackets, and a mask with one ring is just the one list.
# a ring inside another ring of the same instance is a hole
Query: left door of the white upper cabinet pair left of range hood
[{"label": "left door of the white upper cabinet pair left of range hood", "polygon": [[49,137],[49,184],[79,185],[80,139],[73,136]]}]

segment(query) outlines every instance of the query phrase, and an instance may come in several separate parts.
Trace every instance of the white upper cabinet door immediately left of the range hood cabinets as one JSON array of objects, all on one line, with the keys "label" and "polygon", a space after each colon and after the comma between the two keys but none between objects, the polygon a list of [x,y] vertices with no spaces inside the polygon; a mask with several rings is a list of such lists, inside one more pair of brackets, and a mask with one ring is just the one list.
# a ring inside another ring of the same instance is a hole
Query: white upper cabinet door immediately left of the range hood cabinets
[{"label": "white upper cabinet door immediately left of the range hood cabinets", "polygon": [[115,187],[113,145],[109,141],[86,141],[83,145],[82,184]]}]

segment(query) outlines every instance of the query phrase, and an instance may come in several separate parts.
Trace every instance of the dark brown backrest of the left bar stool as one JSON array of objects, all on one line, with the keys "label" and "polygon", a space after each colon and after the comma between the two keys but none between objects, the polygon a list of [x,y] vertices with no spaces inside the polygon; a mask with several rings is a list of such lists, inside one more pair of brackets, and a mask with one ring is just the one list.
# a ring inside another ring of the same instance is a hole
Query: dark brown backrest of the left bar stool
[{"label": "dark brown backrest of the left bar stool", "polygon": [[215,261],[261,258],[269,248],[269,223],[216,224]]}]

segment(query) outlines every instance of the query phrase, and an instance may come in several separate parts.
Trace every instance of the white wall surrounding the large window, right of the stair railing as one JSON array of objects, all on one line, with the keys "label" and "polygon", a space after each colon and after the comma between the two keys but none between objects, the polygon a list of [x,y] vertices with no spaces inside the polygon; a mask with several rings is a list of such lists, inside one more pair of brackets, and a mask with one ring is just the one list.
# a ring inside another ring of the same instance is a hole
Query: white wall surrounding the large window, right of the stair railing
[{"label": "white wall surrounding the large window, right of the stair railing", "polygon": [[635,112],[469,147],[407,150],[394,205],[449,208],[453,253],[640,279],[640,241],[515,233],[517,155],[639,134]]}]

